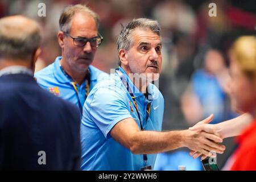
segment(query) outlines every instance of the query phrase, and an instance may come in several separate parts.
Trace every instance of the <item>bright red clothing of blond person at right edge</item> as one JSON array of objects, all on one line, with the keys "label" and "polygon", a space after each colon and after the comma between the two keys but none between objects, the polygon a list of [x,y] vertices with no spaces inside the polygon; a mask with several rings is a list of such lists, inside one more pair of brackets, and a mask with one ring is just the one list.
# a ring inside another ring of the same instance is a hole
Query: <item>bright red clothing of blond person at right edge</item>
[{"label": "bright red clothing of blond person at right edge", "polygon": [[234,152],[232,171],[256,170],[256,120],[237,137],[238,148]]}]

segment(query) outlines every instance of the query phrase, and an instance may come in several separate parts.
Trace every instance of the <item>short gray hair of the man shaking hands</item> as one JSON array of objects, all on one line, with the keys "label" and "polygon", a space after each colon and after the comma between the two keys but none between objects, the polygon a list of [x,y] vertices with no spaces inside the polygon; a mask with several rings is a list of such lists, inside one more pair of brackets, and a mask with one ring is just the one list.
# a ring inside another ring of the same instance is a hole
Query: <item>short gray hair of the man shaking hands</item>
[{"label": "short gray hair of the man shaking hands", "polygon": [[[122,30],[120,34],[118,35],[117,39],[117,49],[118,51],[120,49],[129,50],[133,44],[131,40],[131,33],[136,28],[143,28],[148,29],[154,32],[159,37],[161,36],[161,28],[159,23],[156,20],[147,19],[147,18],[138,18],[133,19],[131,22],[126,24],[126,26],[122,26]],[[118,61],[118,65],[121,65],[120,60]]]}]

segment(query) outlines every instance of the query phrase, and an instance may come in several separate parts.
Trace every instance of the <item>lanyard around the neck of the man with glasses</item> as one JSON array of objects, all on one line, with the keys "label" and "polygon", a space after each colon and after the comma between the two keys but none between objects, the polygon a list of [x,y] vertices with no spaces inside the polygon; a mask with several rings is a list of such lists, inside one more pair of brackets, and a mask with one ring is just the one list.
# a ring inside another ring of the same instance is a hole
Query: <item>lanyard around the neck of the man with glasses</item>
[{"label": "lanyard around the neck of the man with glasses", "polygon": [[[64,71],[64,69],[61,67],[60,65],[60,69],[61,71],[64,73],[65,76],[67,76],[69,78],[69,80],[73,80],[71,78],[71,76],[68,75],[68,73],[66,73]],[[86,79],[86,86],[85,86],[85,99],[87,98],[88,94],[89,94],[89,91],[90,91],[90,71],[88,69],[87,71],[87,74],[85,76],[85,79]],[[73,89],[75,90],[76,92],[76,96],[77,96],[77,100],[78,100],[78,103],[79,103],[79,110],[80,110],[80,113],[82,114],[82,104],[79,100],[79,91],[77,89],[77,86],[76,86],[76,82],[75,81],[71,81],[70,84],[73,86]]]}]

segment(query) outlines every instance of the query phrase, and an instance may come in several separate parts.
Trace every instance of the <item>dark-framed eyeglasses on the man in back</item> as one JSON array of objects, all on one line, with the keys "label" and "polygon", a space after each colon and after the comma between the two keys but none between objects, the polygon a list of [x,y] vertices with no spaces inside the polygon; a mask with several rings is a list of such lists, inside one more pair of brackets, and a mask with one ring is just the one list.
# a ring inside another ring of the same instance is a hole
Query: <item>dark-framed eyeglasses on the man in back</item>
[{"label": "dark-framed eyeglasses on the man in back", "polygon": [[90,38],[90,39],[83,38],[81,36],[71,36],[66,32],[64,32],[64,34],[68,35],[71,39],[73,39],[73,44],[75,46],[79,46],[79,47],[84,47],[84,45],[87,42],[90,42],[90,46],[92,48],[96,48],[96,47],[100,46],[100,44],[103,40],[103,37],[100,34],[98,34],[98,36],[95,36],[94,38]]}]

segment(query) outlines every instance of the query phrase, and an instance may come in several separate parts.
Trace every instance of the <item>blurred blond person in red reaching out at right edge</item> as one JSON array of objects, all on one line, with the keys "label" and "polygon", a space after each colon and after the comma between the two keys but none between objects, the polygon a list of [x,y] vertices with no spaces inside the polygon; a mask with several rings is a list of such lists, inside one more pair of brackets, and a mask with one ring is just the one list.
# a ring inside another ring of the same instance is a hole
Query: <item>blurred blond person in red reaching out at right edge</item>
[{"label": "blurred blond person in red reaching out at right edge", "polygon": [[[216,125],[199,124],[190,130],[218,133],[222,138],[237,137],[239,144],[234,155],[229,158],[224,169],[256,169],[255,155],[255,108],[256,108],[256,39],[255,36],[242,36],[233,45],[231,51],[230,95],[233,109],[240,111],[240,117]],[[197,158],[201,154],[191,151]],[[202,156],[204,159],[206,156]],[[233,163],[233,166],[232,166]],[[232,166],[232,167],[230,167]]]}]

